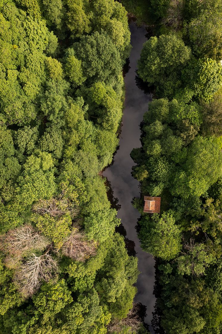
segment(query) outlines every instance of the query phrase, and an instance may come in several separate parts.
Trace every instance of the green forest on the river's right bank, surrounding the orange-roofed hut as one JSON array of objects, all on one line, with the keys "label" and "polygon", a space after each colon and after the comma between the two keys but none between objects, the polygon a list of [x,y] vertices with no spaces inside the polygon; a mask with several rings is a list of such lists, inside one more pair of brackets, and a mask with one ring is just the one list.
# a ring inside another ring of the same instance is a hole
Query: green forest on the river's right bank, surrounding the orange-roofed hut
[{"label": "green forest on the river's right bank, surrounding the orange-roofed hut", "polygon": [[[153,92],[131,152],[138,236],[156,259],[158,334],[222,333],[222,1],[124,0],[152,36],[138,81]],[[147,14],[148,13],[148,14]],[[143,196],[160,196],[160,214]]]}]

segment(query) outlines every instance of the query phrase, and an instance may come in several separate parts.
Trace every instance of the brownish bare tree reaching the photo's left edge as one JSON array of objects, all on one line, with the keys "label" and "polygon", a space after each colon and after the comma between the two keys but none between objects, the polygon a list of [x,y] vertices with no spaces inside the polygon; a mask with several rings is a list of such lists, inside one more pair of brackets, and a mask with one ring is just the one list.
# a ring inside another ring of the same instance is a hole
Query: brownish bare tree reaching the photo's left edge
[{"label": "brownish bare tree reaching the photo's left edge", "polygon": [[17,257],[31,249],[43,251],[49,244],[47,238],[35,231],[31,225],[10,230],[1,236],[0,241],[2,251]]}]

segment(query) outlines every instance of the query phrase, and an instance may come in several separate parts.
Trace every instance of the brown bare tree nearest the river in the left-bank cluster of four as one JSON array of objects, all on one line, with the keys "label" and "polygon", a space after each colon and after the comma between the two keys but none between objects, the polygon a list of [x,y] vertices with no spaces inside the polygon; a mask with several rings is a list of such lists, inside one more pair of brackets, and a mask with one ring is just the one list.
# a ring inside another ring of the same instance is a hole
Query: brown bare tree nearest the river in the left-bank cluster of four
[{"label": "brown bare tree nearest the river in the left-bank cluster of four", "polygon": [[74,227],[63,243],[62,254],[77,261],[84,261],[96,254],[95,241],[86,240],[85,233],[80,231],[79,227]]}]

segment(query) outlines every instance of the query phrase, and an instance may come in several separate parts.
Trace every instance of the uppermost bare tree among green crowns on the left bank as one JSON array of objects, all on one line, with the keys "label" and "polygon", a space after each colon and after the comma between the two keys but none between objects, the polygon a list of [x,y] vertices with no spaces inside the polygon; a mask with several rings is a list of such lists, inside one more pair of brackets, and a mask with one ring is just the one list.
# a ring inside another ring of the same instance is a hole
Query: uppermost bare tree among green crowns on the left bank
[{"label": "uppermost bare tree among green crowns on the left bank", "polygon": [[65,191],[62,191],[58,198],[49,200],[40,199],[34,206],[33,211],[39,214],[48,213],[53,217],[61,217],[66,212],[69,212],[72,218],[79,213],[79,207],[73,205],[68,198],[64,198]]}]

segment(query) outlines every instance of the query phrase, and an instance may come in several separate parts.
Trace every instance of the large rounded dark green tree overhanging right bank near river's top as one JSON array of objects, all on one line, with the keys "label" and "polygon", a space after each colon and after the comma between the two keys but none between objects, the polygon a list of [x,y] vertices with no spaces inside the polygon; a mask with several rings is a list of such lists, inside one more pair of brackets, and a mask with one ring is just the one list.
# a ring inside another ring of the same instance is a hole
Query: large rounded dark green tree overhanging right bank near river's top
[{"label": "large rounded dark green tree overhanging right bank near river's top", "polygon": [[144,43],[138,61],[138,74],[148,85],[155,85],[160,97],[172,98],[181,87],[181,71],[191,50],[176,34],[151,37]]}]

